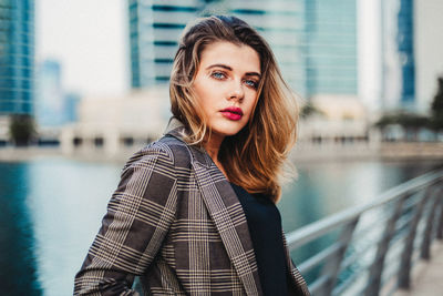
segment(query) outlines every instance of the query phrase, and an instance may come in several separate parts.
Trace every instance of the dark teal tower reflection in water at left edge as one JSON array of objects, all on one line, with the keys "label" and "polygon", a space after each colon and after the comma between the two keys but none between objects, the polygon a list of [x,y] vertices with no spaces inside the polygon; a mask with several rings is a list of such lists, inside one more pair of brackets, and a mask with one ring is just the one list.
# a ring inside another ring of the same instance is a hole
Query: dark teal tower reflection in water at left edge
[{"label": "dark teal tower reflection in water at left edge", "polygon": [[27,207],[29,165],[0,163],[0,290],[41,295],[37,279],[35,234]]}]

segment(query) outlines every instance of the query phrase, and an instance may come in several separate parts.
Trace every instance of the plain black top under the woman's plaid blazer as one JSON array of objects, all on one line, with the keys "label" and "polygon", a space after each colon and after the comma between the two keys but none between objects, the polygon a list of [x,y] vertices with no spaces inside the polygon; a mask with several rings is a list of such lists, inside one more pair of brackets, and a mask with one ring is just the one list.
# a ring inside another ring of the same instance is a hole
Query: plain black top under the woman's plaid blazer
[{"label": "plain black top under the woman's plaid blazer", "polygon": [[258,274],[265,295],[288,295],[281,217],[276,205],[264,194],[249,194],[230,183],[248,222]]}]

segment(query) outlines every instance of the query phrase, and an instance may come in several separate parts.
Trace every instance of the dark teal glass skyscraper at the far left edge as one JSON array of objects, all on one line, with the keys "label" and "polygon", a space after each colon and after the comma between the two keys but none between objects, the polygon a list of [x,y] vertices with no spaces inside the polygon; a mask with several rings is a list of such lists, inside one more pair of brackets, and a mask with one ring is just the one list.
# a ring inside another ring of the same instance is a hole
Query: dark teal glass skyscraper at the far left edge
[{"label": "dark teal glass skyscraper at the far left edge", "polygon": [[32,113],[33,60],[34,1],[0,0],[0,115]]}]

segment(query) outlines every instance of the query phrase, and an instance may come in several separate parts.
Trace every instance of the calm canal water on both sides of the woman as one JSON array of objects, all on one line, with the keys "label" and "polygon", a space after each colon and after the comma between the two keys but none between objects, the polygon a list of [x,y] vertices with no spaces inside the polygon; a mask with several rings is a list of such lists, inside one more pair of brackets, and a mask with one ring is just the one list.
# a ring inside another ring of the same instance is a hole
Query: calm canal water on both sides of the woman
[{"label": "calm canal water on both sides of the woman", "polygon": [[[368,203],[442,162],[299,163],[278,204],[288,233]],[[72,295],[122,164],[41,159],[0,162],[1,295]]]}]

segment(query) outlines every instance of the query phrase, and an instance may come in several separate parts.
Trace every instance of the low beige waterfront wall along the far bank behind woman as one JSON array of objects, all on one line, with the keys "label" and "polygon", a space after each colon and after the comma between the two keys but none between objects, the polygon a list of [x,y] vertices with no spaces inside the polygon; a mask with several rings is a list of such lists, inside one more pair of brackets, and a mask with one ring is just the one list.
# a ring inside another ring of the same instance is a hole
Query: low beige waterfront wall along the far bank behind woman
[{"label": "low beige waterfront wall along the far bank behind woman", "polygon": [[[27,161],[35,157],[64,156],[87,161],[124,162],[143,144],[121,147],[114,153],[106,153],[104,147],[80,147],[65,153],[61,147],[0,147],[0,161]],[[312,145],[300,143],[291,151],[289,159],[299,162],[316,161],[364,161],[364,160],[441,160],[443,161],[443,143],[347,143]]]}]

